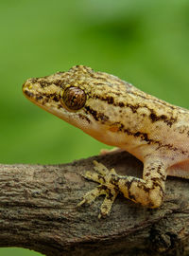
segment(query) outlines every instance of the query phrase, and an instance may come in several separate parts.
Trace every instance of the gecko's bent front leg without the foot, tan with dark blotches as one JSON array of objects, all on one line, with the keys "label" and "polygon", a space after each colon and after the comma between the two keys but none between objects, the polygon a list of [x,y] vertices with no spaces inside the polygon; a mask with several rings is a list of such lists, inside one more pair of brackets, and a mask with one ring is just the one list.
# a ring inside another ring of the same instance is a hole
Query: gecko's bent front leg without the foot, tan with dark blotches
[{"label": "gecko's bent front leg without the foot, tan with dark blotches", "polygon": [[158,208],[162,204],[166,179],[166,167],[162,161],[145,162],[143,179],[132,176],[115,179],[120,192],[130,200],[148,208]]}]

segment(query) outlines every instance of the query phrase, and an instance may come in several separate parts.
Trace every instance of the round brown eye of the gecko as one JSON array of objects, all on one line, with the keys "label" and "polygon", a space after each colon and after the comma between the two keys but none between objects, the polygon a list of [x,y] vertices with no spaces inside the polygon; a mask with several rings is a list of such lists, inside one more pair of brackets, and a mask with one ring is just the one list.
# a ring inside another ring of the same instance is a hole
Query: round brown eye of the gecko
[{"label": "round brown eye of the gecko", "polygon": [[61,103],[69,110],[78,110],[82,108],[85,101],[86,95],[84,91],[77,87],[66,88],[61,98]]}]

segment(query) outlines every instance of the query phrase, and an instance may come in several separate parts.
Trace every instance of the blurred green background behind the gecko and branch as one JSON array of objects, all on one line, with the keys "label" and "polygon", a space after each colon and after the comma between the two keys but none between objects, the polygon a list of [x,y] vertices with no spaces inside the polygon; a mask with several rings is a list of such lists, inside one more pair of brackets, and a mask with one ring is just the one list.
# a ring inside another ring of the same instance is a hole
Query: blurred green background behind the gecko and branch
[{"label": "blurred green background behind the gecko and branch", "polygon": [[65,163],[106,148],[27,101],[30,77],[85,64],[189,108],[188,0],[1,0],[0,27],[1,163]]}]

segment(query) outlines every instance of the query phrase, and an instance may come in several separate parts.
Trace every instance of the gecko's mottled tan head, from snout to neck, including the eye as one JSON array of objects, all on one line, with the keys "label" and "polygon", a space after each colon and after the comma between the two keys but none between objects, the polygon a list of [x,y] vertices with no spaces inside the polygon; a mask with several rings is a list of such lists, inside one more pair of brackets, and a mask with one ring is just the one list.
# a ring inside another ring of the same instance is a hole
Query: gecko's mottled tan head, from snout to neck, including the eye
[{"label": "gecko's mottled tan head, from snout to neck, including the eye", "polygon": [[76,65],[67,72],[28,79],[23,93],[44,110],[105,142],[103,131],[119,129],[116,107],[123,107],[123,99],[120,103],[115,101],[122,98],[130,86],[107,73]]}]

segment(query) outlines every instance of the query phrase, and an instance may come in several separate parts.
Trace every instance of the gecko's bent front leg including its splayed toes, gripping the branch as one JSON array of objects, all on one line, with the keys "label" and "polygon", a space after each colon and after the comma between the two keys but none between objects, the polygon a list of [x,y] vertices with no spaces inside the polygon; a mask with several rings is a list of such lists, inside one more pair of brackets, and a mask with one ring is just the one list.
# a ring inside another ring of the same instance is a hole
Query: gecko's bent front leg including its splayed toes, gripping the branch
[{"label": "gecko's bent front leg including its splayed toes, gripping the branch", "polygon": [[98,217],[110,213],[112,203],[117,194],[122,192],[125,197],[148,208],[157,208],[163,201],[166,168],[159,160],[148,161],[144,164],[143,179],[133,176],[121,176],[114,169],[109,171],[104,165],[94,161],[96,173],[87,172],[84,177],[100,185],[91,192],[87,192],[78,204],[92,203],[95,198],[105,194]]}]

